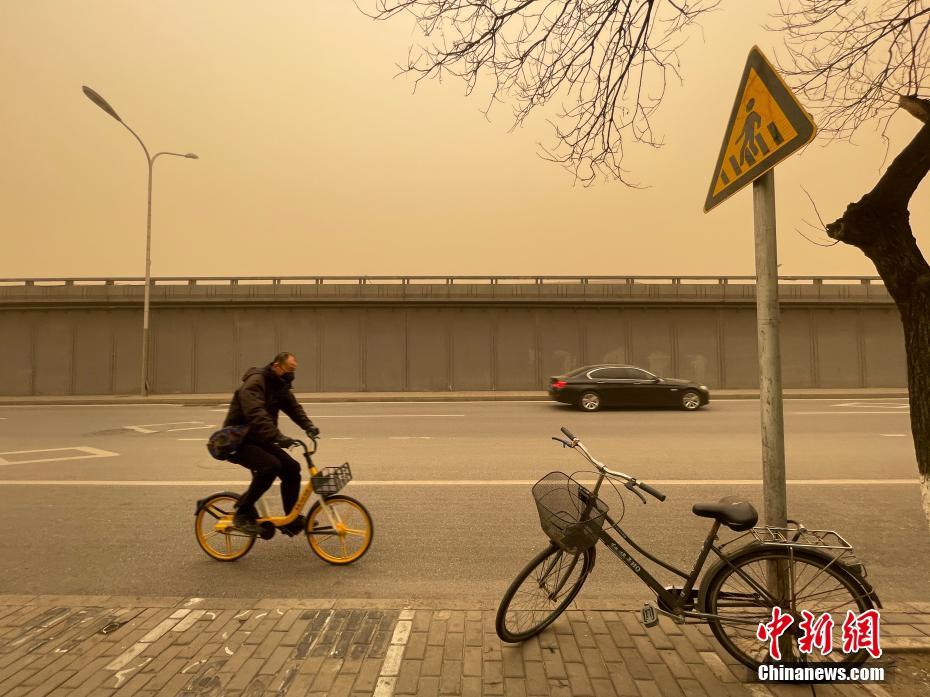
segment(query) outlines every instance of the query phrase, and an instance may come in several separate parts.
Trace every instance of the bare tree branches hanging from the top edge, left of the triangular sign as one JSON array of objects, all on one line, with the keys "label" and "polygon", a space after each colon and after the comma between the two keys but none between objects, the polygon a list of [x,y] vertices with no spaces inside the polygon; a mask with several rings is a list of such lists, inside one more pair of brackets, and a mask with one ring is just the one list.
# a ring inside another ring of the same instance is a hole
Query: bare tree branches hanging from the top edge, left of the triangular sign
[{"label": "bare tree branches hanging from the top edge, left of the triangular sign", "polygon": [[[423,37],[403,70],[415,84],[453,76],[466,94],[487,82],[487,110],[513,105],[514,127],[555,103],[543,156],[585,183],[626,181],[624,145],[657,147],[651,118],[678,50],[718,0],[374,0],[380,20],[412,16]],[[363,10],[364,11],[364,10]],[[487,113],[487,110],[485,113]]]}]

